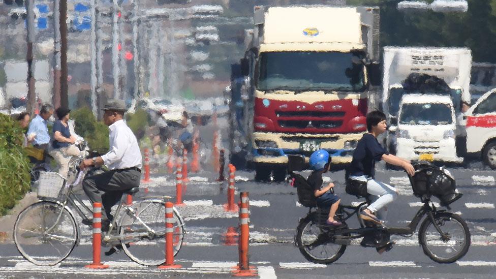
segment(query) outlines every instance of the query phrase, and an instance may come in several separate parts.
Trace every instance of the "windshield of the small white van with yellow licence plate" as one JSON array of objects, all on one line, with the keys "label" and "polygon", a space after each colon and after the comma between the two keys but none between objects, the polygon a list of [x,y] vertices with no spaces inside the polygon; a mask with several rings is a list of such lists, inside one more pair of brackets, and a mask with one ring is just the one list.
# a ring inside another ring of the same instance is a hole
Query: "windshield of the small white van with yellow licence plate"
[{"label": "windshield of the small white van with yellow licence plate", "polygon": [[447,104],[404,104],[399,122],[406,125],[447,125],[453,123],[451,107]]}]

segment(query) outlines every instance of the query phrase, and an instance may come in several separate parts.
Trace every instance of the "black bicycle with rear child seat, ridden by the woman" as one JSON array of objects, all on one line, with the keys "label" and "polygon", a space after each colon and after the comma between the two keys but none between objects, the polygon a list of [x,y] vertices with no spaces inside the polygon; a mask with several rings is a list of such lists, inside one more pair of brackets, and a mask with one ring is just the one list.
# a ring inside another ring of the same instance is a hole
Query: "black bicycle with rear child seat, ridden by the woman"
[{"label": "black bicycle with rear child seat, ridden by the woman", "polygon": [[[362,237],[361,246],[375,247],[379,253],[389,251],[394,244],[394,242],[390,241],[390,235],[411,237],[417,231],[419,224],[419,244],[422,246],[424,254],[433,261],[438,263],[452,263],[467,254],[470,247],[470,231],[467,223],[455,213],[436,208],[430,200],[433,194],[432,192],[435,192],[435,189],[430,189],[429,192],[419,187],[419,181],[425,183],[426,181],[430,181],[428,179],[431,178],[434,181],[438,179],[437,175],[442,175],[442,178],[439,178],[442,181],[452,182],[452,186],[454,187],[454,179],[451,174],[443,168],[436,168],[424,162],[414,162],[413,165],[416,169],[416,175],[410,177],[410,182],[414,188],[414,194],[421,198],[423,206],[406,227],[393,228],[378,226],[364,222],[359,218],[362,207],[370,204],[368,196],[365,197],[366,201],[361,202],[357,206],[339,205],[336,216],[337,220],[343,223],[339,227],[326,225],[327,215],[329,213],[328,208],[317,208],[315,203],[307,204],[309,207],[308,214],[300,219],[296,232],[296,245],[305,259],[320,264],[333,263],[344,254],[346,247],[351,244],[352,240]],[[291,168],[288,168],[288,170],[290,177],[293,179],[294,186],[297,189],[304,187],[306,179],[297,173],[293,173]],[[417,173],[421,173],[419,177],[417,177]],[[422,180],[420,177],[427,180]],[[430,187],[433,186],[431,185]],[[303,198],[301,193],[302,191],[299,190],[299,200]],[[461,195],[456,192],[440,196],[441,204],[450,209],[449,204],[459,199]],[[353,215],[357,216],[360,228],[348,227],[347,221]]]}]

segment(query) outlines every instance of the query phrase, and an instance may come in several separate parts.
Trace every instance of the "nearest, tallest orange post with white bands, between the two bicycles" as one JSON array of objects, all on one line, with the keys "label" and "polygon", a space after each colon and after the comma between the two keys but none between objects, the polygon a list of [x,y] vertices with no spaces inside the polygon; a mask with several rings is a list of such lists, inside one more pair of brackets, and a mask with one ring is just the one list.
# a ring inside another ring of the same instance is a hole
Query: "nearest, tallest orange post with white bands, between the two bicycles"
[{"label": "nearest, tallest orange post with white bands, between the two bicycles", "polygon": [[233,276],[257,276],[257,271],[250,266],[248,247],[250,244],[250,201],[248,192],[241,192],[239,206],[239,264],[233,270]]}]

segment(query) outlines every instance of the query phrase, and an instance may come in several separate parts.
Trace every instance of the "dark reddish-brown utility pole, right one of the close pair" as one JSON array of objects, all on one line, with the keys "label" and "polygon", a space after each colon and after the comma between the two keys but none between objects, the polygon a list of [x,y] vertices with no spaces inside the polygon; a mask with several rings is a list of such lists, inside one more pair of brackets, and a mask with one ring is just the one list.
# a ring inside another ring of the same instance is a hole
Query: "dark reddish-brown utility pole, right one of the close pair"
[{"label": "dark reddish-brown utility pole, right one of the close pair", "polygon": [[60,0],[60,106],[69,107],[67,84],[67,0]]}]

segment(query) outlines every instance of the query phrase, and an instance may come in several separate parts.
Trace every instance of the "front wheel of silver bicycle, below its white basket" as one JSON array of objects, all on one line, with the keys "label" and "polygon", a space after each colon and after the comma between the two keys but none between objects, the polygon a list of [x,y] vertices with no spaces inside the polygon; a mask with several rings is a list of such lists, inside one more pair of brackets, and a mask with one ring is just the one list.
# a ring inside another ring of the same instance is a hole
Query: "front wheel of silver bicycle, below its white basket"
[{"label": "front wheel of silver bicycle, below its white basket", "polygon": [[67,258],[76,245],[78,234],[71,212],[50,201],[28,206],[14,225],[17,250],[36,265],[55,265]]}]

